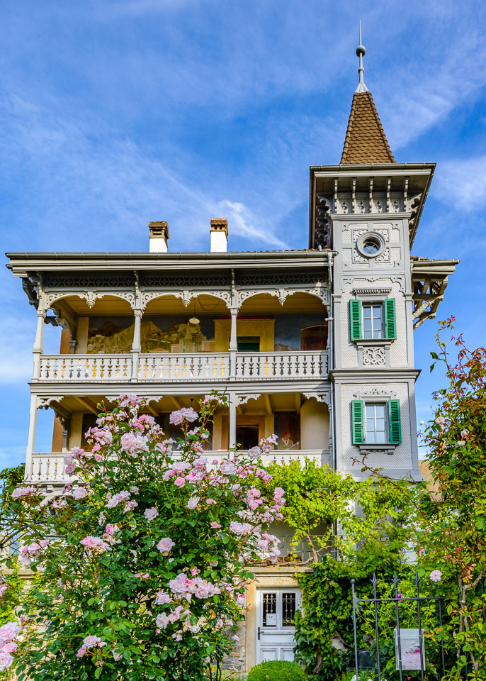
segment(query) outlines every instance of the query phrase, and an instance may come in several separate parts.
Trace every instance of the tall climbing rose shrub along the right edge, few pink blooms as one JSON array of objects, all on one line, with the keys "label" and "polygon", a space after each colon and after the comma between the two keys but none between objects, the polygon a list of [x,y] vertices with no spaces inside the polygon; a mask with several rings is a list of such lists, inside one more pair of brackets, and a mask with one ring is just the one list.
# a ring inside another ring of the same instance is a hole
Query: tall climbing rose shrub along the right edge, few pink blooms
[{"label": "tall climbing rose shrub along the right edge, few pink blooms", "polygon": [[437,587],[448,600],[452,627],[434,632],[457,651],[448,679],[462,678],[466,665],[470,678],[486,679],[486,350],[468,350],[462,336],[452,336],[452,360],[441,331],[453,331],[453,321],[440,323],[439,349],[431,353],[431,370],[439,362],[448,385],[434,393],[424,433],[437,492],[424,499],[417,546],[420,574],[440,570]]}]

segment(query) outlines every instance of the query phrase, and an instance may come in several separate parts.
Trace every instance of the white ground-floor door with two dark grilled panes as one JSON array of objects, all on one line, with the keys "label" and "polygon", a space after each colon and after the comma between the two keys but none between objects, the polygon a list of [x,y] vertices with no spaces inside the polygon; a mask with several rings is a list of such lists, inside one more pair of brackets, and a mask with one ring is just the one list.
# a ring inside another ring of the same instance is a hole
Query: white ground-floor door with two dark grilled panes
[{"label": "white ground-floor door with two dark grilled panes", "polygon": [[256,663],[293,660],[293,618],[299,607],[299,589],[259,589]]}]

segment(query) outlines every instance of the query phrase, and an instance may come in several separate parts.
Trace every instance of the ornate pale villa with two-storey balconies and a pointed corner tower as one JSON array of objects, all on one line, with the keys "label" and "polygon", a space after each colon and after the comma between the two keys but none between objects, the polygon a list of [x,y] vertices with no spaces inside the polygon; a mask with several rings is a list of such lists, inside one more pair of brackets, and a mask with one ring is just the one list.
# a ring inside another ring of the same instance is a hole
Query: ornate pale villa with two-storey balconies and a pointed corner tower
[{"label": "ornate pale villa with two-storey balconies and a pointed corner tower", "polygon": [[[154,221],[147,253],[8,254],[37,312],[29,483],[67,482],[63,453],[85,444],[102,399],[145,397],[170,436],[171,411],[214,388],[230,406],[215,414],[210,458],[276,433],[277,460],[358,477],[366,453],[421,479],[413,331],[436,315],[458,260],[410,255],[435,165],[395,162],[357,54],[341,162],[310,167],[307,249],[232,252],[231,226],[213,219],[207,253],[171,253],[168,223]],[[56,355],[43,351],[46,323],[62,327]],[[35,448],[39,409],[55,412],[50,452]],[[244,671],[293,658],[293,575],[305,569],[255,568],[234,660]]]}]

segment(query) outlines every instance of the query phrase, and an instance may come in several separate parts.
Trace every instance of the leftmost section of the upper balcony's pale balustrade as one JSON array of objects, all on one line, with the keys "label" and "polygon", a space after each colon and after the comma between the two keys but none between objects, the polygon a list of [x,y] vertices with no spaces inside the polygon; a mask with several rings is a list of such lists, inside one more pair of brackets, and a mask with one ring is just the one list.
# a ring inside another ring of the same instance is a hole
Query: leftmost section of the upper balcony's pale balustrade
[{"label": "leftmost section of the upper balcony's pale balustrade", "polygon": [[39,379],[65,382],[125,382],[132,355],[40,355]]}]

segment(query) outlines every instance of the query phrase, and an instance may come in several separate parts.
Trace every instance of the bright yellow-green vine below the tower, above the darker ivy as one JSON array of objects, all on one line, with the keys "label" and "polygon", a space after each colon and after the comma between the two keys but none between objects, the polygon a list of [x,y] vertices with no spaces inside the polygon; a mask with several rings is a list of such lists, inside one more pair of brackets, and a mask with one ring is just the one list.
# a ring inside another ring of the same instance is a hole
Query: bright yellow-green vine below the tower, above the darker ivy
[{"label": "bright yellow-green vine below the tower, above the darker ivy", "polygon": [[265,494],[273,486],[285,489],[283,521],[293,528],[295,544],[307,542],[312,561],[320,560],[332,547],[334,558],[353,567],[354,577],[385,567],[393,570],[400,563],[416,514],[403,494],[409,482],[395,484],[371,477],[356,481],[315,461],[273,463],[268,470],[271,485],[256,484]]}]

